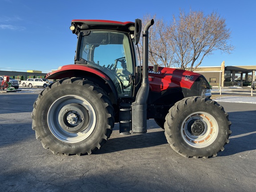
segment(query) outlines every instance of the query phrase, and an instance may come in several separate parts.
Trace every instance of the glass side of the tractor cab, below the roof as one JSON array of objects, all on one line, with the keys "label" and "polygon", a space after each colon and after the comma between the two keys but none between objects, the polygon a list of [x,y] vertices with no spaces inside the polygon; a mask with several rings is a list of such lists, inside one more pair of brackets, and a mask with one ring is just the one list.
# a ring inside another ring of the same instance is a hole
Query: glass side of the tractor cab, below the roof
[{"label": "glass side of the tractor cab, below the roof", "polygon": [[82,34],[77,63],[104,72],[112,79],[119,97],[131,97],[134,70],[129,34],[112,31],[85,31]]}]

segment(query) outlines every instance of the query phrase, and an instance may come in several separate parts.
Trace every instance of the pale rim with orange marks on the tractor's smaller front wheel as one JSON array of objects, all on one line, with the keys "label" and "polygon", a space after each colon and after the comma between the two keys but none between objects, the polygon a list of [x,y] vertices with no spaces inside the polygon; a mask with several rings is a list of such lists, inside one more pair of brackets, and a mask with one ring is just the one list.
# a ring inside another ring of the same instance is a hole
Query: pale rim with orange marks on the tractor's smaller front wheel
[{"label": "pale rim with orange marks on the tractor's smaller front wheel", "polygon": [[195,148],[207,147],[218,135],[216,119],[206,112],[187,116],[182,123],[181,135],[184,141]]}]

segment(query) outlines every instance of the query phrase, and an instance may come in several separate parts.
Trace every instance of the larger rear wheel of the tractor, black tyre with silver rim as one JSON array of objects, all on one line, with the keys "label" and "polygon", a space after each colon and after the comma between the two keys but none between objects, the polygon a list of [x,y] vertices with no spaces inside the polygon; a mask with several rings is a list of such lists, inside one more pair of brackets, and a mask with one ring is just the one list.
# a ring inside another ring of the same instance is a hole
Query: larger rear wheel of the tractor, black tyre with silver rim
[{"label": "larger rear wheel of the tractor, black tyre with silver rim", "polygon": [[41,92],[32,119],[36,138],[54,154],[91,154],[111,135],[114,109],[91,81],[63,79]]}]

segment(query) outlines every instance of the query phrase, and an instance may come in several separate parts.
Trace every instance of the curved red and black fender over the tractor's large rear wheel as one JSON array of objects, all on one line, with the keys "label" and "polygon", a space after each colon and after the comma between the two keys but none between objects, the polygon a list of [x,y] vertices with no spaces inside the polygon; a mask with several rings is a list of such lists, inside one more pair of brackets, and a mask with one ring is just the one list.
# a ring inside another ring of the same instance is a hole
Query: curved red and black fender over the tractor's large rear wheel
[{"label": "curved red and black fender over the tractor's large rear wheel", "polygon": [[112,104],[117,103],[118,96],[114,83],[106,74],[100,70],[85,65],[70,64],[65,65],[57,71],[48,74],[46,79],[60,80],[67,77],[80,77],[92,81],[104,89],[105,92],[107,92],[112,101]]}]

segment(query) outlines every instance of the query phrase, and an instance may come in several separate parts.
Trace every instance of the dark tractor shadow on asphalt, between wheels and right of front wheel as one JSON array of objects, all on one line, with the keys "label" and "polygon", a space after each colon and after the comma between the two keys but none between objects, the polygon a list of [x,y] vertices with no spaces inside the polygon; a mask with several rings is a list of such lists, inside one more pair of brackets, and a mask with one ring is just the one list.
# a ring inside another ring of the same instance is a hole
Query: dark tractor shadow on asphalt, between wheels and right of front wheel
[{"label": "dark tractor shadow on asphalt, between wheels and right of front wheel", "polygon": [[[232,122],[232,134],[229,143],[224,146],[225,150],[218,156],[231,156],[240,152],[256,150],[256,111],[229,112],[229,120]],[[136,148],[150,148],[165,145],[171,148],[164,135],[164,130],[155,124],[154,120],[148,120],[148,132],[139,135],[120,135],[118,124],[113,129],[112,136],[100,150],[94,154],[104,154],[125,151]]]}]

